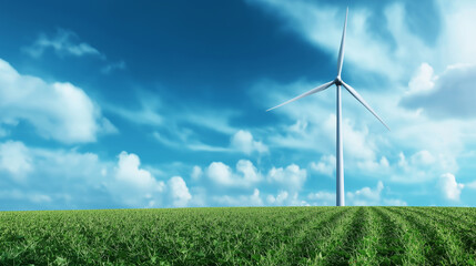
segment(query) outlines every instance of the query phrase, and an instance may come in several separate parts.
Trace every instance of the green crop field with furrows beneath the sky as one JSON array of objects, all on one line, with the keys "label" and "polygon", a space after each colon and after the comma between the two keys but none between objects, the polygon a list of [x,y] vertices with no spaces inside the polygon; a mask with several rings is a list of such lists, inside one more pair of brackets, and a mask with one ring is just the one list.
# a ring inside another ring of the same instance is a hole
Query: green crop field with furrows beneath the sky
[{"label": "green crop field with furrows beneath the sky", "polygon": [[0,265],[475,265],[476,208],[0,212]]}]

